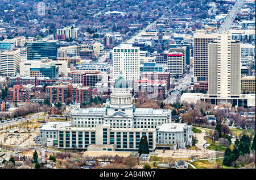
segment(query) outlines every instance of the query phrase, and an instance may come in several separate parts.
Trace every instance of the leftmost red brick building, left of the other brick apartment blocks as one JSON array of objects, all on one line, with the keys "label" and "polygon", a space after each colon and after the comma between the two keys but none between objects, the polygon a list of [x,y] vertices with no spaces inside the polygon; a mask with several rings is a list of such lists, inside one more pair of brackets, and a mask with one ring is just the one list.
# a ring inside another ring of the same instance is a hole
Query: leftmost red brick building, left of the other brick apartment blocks
[{"label": "leftmost red brick building, left of the other brick apartment blocks", "polygon": [[7,100],[12,102],[27,102],[29,99],[28,88],[23,85],[14,85],[7,91]]}]

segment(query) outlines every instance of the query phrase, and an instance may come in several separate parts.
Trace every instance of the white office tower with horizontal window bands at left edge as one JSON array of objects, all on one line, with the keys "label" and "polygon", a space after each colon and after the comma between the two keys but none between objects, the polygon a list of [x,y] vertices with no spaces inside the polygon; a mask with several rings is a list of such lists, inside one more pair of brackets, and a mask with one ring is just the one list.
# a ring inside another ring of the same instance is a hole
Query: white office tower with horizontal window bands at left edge
[{"label": "white office tower with horizontal window bands at left edge", "polygon": [[20,49],[5,51],[0,54],[2,76],[15,76],[19,73]]}]

